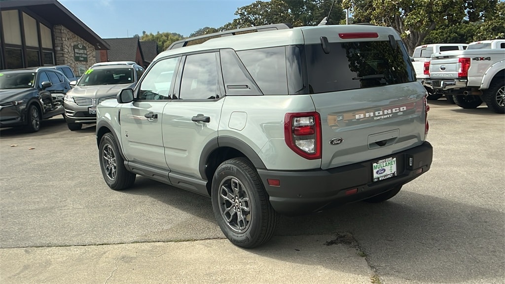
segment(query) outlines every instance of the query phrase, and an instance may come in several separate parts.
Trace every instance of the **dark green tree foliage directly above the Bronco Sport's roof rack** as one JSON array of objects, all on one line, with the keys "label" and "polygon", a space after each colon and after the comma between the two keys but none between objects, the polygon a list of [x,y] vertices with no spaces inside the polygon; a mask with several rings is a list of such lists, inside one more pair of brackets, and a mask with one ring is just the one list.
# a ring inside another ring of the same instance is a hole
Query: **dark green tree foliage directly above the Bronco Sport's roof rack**
[{"label": "dark green tree foliage directly above the Bronco Sport's roof rack", "polygon": [[[238,18],[222,26],[231,30],[250,26],[289,23],[293,26],[314,26],[328,16],[333,0],[271,0],[256,1],[237,9]],[[328,24],[337,24],[344,18],[341,0],[332,9]]]}]

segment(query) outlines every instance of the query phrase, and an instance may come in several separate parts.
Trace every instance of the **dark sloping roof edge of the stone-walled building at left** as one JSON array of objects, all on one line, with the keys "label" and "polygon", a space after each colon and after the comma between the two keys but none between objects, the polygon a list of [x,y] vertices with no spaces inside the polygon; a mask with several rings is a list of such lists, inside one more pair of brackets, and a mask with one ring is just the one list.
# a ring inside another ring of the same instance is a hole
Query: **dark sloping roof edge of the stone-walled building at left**
[{"label": "dark sloping roof edge of the stone-walled building at left", "polygon": [[52,25],[63,25],[82,39],[93,44],[96,50],[108,50],[109,44],[86,26],[57,0],[6,0],[0,10],[29,10]]}]

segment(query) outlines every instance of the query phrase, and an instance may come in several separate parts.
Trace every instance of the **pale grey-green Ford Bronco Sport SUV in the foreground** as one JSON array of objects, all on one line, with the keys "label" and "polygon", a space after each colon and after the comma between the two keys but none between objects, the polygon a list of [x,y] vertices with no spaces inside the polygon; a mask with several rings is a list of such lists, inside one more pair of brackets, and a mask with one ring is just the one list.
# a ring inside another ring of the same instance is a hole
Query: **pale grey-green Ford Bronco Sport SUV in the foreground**
[{"label": "pale grey-green Ford Bronco Sport SUV in the foreground", "polygon": [[[259,31],[259,32],[252,32]],[[97,108],[106,183],[211,197],[235,245],[277,214],[382,202],[429,170],[426,90],[387,27],[251,27],[175,42]]]}]

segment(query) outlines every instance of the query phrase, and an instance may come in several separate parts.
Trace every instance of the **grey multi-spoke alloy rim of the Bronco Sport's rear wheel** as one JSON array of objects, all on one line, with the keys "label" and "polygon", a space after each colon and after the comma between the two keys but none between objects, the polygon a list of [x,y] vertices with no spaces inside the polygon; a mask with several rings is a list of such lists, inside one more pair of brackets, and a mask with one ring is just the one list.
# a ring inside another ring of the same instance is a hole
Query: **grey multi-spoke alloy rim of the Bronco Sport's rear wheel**
[{"label": "grey multi-spoke alloy rim of the Bronco Sport's rear wheel", "polygon": [[244,232],[251,222],[249,196],[245,187],[236,177],[225,177],[219,185],[219,205],[221,215],[228,226],[236,232]]}]

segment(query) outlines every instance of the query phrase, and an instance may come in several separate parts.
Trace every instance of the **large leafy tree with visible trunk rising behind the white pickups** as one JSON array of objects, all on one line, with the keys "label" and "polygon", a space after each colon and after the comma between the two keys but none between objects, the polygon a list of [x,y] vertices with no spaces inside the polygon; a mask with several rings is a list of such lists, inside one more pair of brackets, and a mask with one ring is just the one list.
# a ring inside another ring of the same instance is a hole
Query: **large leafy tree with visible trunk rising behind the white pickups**
[{"label": "large leafy tree with visible trunk rising behind the white pickups", "polygon": [[409,53],[441,25],[458,25],[465,18],[481,20],[497,0],[343,0],[356,20],[393,27],[405,41]]}]

